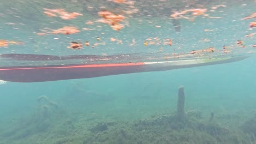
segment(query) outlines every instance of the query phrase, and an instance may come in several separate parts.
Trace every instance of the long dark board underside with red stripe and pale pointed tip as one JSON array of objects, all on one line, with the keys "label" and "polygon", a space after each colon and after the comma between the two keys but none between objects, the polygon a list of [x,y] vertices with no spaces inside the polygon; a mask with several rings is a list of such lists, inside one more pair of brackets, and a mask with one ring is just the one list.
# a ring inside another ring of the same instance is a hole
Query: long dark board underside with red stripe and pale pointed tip
[{"label": "long dark board underside with red stripe and pale pointed tip", "polygon": [[247,57],[187,59],[181,61],[103,63],[82,65],[44,65],[40,67],[0,67],[0,79],[11,82],[43,82],[84,79],[108,75],[164,71],[241,61]]}]

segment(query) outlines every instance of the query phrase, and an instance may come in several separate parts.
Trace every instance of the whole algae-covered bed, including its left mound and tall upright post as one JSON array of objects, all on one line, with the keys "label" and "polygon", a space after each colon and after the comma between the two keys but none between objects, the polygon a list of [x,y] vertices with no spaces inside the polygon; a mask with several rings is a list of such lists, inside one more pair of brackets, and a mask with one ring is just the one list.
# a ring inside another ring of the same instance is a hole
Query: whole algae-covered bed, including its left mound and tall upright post
[{"label": "whole algae-covered bed, including its left mound and tall upright post", "polygon": [[[100,122],[71,115],[59,103],[43,95],[38,98],[38,109],[31,117],[0,133],[0,143],[256,143],[256,115],[242,125],[237,124],[237,128],[231,128],[213,112],[203,117],[201,110],[184,111],[184,102],[184,87],[180,87],[177,110],[172,114],[130,122],[107,119]],[[224,118],[229,121],[230,116]]]}]

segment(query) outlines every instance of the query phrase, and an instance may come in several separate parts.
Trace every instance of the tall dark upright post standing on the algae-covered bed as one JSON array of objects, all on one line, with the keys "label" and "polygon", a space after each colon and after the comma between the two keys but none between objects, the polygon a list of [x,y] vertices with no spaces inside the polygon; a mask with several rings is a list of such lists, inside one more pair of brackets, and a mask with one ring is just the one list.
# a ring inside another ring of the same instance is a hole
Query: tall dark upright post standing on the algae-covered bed
[{"label": "tall dark upright post standing on the algae-covered bed", "polygon": [[177,118],[179,121],[184,119],[184,102],[185,102],[185,93],[184,87],[179,87],[178,92],[178,103],[177,103]]}]

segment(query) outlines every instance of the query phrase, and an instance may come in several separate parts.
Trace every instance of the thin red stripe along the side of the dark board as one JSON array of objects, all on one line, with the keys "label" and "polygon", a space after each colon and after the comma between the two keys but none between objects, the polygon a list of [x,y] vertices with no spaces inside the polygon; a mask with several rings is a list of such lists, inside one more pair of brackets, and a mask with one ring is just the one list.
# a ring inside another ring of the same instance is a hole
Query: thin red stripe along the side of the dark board
[{"label": "thin red stripe along the side of the dark board", "polygon": [[9,68],[0,70],[22,70],[22,69],[50,69],[50,68],[99,68],[99,67],[123,67],[133,65],[144,65],[144,62],[138,63],[113,63],[113,64],[87,64],[87,65],[75,65],[66,67],[34,67],[34,68]]}]

